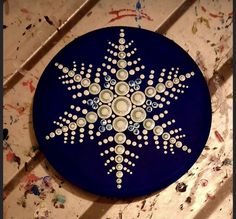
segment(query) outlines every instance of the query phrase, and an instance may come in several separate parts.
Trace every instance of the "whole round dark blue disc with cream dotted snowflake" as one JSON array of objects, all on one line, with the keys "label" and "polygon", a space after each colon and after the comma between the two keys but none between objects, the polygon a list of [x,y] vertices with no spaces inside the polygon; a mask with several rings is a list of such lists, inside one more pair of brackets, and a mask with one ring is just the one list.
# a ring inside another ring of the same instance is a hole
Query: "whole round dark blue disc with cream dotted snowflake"
[{"label": "whole round dark blue disc with cream dotted snowflake", "polygon": [[46,67],[33,123],[40,149],[66,179],[99,195],[133,197],[168,186],[194,164],[210,130],[210,96],[173,41],[103,28]]}]

